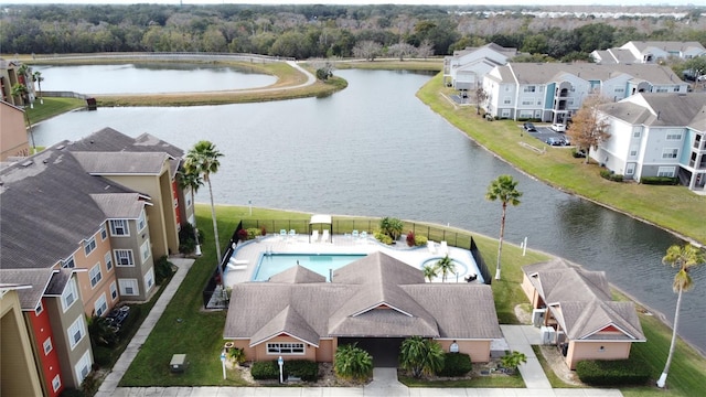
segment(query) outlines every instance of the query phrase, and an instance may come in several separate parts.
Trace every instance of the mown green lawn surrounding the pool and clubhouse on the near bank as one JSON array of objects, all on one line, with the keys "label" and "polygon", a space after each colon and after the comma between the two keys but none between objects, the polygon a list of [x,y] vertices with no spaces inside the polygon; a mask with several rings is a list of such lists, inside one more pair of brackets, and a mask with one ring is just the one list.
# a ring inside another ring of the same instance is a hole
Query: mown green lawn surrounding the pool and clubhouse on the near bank
[{"label": "mown green lawn surrounding the pool and clubhouse on the near bank", "polygon": [[[235,372],[228,373],[228,379],[223,380],[218,354],[223,347],[223,328],[225,325],[225,312],[204,312],[202,289],[215,268],[215,248],[213,244],[213,230],[211,228],[210,208],[197,205],[197,222],[201,225],[205,242],[203,256],[196,260],[191,271],[182,282],[167,308],[161,320],[156,325],[148,341],[140,348],[140,353],[120,382],[120,386],[211,386],[211,385],[245,385]],[[277,210],[253,208],[249,214],[247,206],[218,206],[218,229],[223,247],[237,223],[288,222],[289,219],[309,219],[311,214],[300,212],[286,212]],[[377,225],[376,218],[366,217],[335,217],[334,223],[345,227],[352,225]],[[440,226],[436,226],[441,228]],[[362,227],[361,227],[362,228]],[[449,233],[460,233],[458,229],[449,229]],[[498,242],[473,234],[473,238],[494,273]],[[495,308],[501,323],[516,323],[514,307],[525,303],[526,298],[520,288],[522,282],[521,267],[527,264],[545,260],[546,255],[528,250],[522,256],[517,246],[503,245],[502,281],[493,281],[492,289],[495,298]],[[642,357],[656,377],[662,371],[671,330],[654,316],[641,314],[643,329],[649,340],[646,343],[633,345],[633,354]],[[169,361],[172,354],[186,353],[191,366],[182,375],[173,375],[169,372]],[[706,360],[684,343],[677,345],[677,352],[672,364],[668,390],[659,390],[656,387],[631,387],[621,389],[625,396],[694,396],[702,390],[700,385],[706,384]],[[522,379],[520,379],[522,380]],[[418,380],[407,379],[409,386],[422,386]],[[507,384],[510,382],[511,384]],[[513,386],[515,380],[511,377],[482,377],[464,383],[434,384],[434,387],[522,387]],[[431,385],[427,385],[431,386]]]}]

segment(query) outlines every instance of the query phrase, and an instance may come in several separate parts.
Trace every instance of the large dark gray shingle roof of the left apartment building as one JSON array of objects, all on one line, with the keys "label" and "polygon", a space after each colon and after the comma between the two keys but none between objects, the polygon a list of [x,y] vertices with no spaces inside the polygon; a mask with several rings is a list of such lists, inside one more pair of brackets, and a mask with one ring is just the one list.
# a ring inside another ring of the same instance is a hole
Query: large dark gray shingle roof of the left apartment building
[{"label": "large dark gray shingle roof of the left apartment building", "polygon": [[88,175],[65,144],[0,171],[3,269],[45,268],[67,258],[106,221],[90,194],[132,193]]}]

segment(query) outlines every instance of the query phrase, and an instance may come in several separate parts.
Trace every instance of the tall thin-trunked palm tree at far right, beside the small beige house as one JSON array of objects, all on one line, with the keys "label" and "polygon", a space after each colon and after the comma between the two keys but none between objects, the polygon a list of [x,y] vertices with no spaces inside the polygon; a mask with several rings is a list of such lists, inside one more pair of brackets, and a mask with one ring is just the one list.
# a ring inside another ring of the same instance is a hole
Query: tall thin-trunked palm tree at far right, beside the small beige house
[{"label": "tall thin-trunked palm tree at far right, beside the small beige house", "polygon": [[674,356],[674,346],[676,344],[676,328],[680,322],[680,308],[682,307],[682,292],[688,291],[694,286],[692,277],[688,272],[693,267],[702,265],[705,261],[706,259],[704,258],[704,251],[691,244],[687,244],[684,247],[680,247],[677,244],[675,244],[667,248],[666,255],[664,256],[664,258],[662,258],[662,264],[670,265],[673,268],[678,268],[680,270],[676,272],[676,275],[674,275],[674,282],[672,283],[672,289],[677,293],[676,309],[674,310],[674,324],[672,325],[673,330],[672,343],[670,344],[670,354],[666,357],[664,371],[662,371],[662,375],[660,375],[660,379],[657,379],[659,387],[664,387],[664,385],[666,384],[666,376],[670,372],[672,357]]}]

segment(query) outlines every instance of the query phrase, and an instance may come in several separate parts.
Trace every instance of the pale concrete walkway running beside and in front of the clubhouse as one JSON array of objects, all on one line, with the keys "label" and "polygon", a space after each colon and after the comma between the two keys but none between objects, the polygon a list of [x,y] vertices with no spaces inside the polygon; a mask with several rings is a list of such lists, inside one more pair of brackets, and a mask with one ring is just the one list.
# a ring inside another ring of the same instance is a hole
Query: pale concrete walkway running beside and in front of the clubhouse
[{"label": "pale concrete walkway running beside and in front of the clubhouse", "polygon": [[622,397],[617,389],[553,389],[532,350],[532,344],[541,343],[539,330],[531,325],[501,325],[509,348],[527,356],[527,363],[520,366],[527,388],[409,388],[397,380],[395,368],[375,368],[373,382],[362,387],[117,387],[193,265],[193,259],[170,260],[178,267],[176,273],[100,385],[97,397]]}]

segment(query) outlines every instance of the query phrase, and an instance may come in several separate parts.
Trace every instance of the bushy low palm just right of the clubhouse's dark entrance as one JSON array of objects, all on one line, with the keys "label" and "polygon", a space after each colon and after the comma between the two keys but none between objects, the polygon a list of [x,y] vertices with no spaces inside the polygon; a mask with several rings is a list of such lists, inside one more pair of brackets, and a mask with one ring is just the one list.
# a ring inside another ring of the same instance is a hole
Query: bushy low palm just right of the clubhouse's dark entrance
[{"label": "bushy low palm just right of the clubhouse's dark entrance", "polygon": [[443,357],[439,342],[421,336],[408,337],[399,347],[399,365],[416,378],[441,371]]}]

